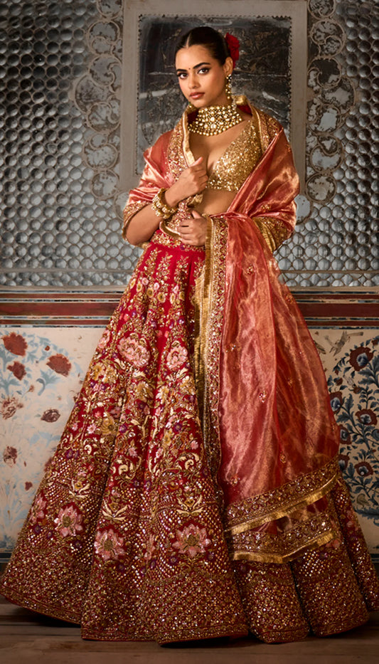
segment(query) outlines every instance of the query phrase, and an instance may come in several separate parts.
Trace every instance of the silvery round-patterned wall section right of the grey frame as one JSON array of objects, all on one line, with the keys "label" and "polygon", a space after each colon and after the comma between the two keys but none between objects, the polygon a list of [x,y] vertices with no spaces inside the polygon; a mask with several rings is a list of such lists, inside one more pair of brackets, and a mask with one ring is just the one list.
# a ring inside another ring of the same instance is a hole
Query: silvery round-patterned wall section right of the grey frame
[{"label": "silvery round-patterned wall section right of the grey frame", "polygon": [[379,284],[378,23],[375,0],[309,0],[305,218],[279,251],[291,285]]}]

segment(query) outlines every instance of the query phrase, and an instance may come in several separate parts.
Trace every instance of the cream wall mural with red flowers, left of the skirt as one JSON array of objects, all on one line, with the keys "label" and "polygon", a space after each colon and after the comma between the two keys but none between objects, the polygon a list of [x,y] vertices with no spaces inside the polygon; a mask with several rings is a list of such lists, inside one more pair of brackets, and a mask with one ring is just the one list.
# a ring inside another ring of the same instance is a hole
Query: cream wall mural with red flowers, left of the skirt
[{"label": "cream wall mural with red flowers, left of the skirt", "polygon": [[0,554],[11,551],[55,450],[100,330],[0,336]]}]

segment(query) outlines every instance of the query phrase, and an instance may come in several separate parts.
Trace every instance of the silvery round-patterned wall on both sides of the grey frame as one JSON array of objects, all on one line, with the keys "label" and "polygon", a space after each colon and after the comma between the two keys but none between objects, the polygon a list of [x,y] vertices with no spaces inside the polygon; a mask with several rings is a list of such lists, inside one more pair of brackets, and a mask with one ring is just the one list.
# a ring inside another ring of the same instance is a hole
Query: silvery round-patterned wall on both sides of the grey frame
[{"label": "silvery round-patterned wall on both sides of the grey frame", "polygon": [[[292,286],[379,283],[376,10],[309,0],[306,191],[278,254]],[[122,285],[139,255],[120,237],[122,0],[12,0],[0,18],[0,285]]]}]

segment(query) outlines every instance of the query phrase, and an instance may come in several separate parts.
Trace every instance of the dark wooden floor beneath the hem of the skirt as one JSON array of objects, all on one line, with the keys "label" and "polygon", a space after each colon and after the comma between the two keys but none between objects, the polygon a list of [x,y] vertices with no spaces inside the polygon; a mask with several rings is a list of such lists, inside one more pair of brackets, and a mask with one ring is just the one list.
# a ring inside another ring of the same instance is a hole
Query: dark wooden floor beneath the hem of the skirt
[{"label": "dark wooden floor beneath the hem of the skirt", "polygon": [[80,629],[0,598],[1,664],[378,664],[379,612],[369,623],[329,638],[267,645],[234,642],[161,647],[156,643],[82,641]]}]

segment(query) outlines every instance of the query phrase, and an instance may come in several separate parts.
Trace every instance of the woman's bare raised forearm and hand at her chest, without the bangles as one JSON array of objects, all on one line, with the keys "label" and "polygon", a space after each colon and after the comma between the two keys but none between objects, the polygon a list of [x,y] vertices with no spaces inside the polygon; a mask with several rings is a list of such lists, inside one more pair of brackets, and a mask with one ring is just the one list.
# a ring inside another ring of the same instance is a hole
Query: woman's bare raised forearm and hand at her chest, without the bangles
[{"label": "woman's bare raised forearm and hand at her chest, without the bangles", "polygon": [[[196,159],[196,162],[181,172],[176,182],[166,189],[164,199],[169,207],[175,208],[188,196],[200,194],[205,189],[208,176],[202,162],[203,157]],[[127,241],[133,245],[149,241],[159,227],[160,221],[161,216],[156,215],[151,205],[144,206],[129,220],[126,231]]]}]

